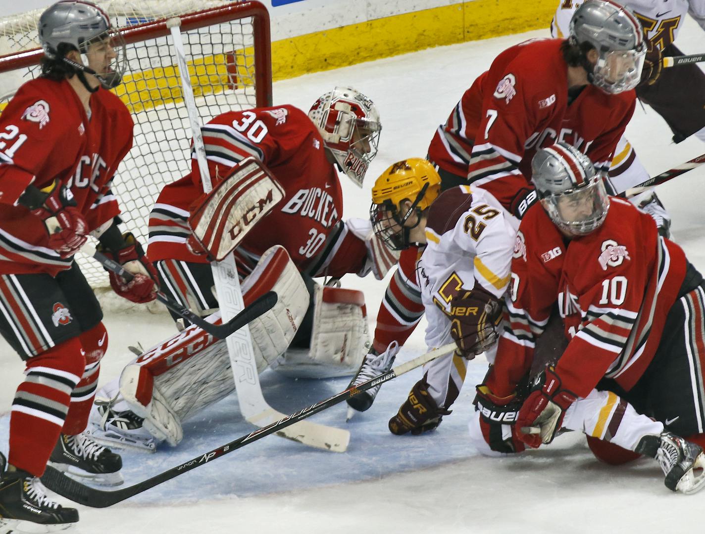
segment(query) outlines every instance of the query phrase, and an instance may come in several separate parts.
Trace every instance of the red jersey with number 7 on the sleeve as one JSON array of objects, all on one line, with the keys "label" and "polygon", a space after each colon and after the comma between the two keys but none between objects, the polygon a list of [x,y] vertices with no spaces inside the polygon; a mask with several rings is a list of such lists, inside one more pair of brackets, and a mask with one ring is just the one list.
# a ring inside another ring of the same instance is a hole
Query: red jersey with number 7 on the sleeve
[{"label": "red jersey with number 7 on the sleeve", "polygon": [[606,172],[635,109],[634,91],[608,95],[593,85],[569,105],[563,42],[534,39],[503,51],[462,95],[429,147],[431,161],[467,176],[520,218],[530,204],[522,200],[533,189],[537,149],[565,141]]}]

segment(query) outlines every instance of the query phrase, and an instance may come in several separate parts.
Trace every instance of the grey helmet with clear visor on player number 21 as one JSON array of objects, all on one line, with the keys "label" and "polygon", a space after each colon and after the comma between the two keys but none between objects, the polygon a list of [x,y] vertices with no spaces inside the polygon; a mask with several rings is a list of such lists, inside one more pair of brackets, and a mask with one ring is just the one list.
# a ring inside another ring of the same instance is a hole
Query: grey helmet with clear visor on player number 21
[{"label": "grey helmet with clear visor on player number 21", "polygon": [[[82,0],[56,2],[39,17],[37,31],[48,58],[63,61],[78,73],[94,75],[107,89],[120,83],[126,68],[125,42],[98,6]],[[66,51],[59,49],[61,44],[79,51],[82,63],[67,58]],[[98,49],[104,53],[103,59],[91,68],[88,54]]]}]

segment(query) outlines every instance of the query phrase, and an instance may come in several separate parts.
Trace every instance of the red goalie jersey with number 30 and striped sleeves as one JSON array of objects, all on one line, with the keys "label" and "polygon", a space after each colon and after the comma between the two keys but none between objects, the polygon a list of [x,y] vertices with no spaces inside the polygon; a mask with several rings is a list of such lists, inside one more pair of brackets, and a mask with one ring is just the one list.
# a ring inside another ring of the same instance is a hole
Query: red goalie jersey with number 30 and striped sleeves
[{"label": "red goalie jersey with number 30 and striped sleeves", "polygon": [[[236,250],[241,273],[247,274],[247,267],[254,267],[259,256],[275,244],[287,249],[300,270],[314,275],[360,271],[367,249],[341,223],[343,192],[338,173],[306,113],[290,105],[228,111],[204,125],[202,132],[211,178],[226,176],[238,162],[255,156],[285,190],[284,199]],[[152,209],[152,261],[207,262],[186,246],[190,206],[203,192],[197,162],[193,162],[191,173],[164,187]],[[331,256],[335,257],[331,260]],[[345,264],[338,264],[336,259],[343,257]]]}]

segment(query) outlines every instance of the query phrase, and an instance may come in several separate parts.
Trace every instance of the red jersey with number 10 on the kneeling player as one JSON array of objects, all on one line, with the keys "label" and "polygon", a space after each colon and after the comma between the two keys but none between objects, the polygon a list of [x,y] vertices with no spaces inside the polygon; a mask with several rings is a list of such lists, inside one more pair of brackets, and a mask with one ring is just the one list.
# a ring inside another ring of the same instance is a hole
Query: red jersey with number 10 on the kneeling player
[{"label": "red jersey with number 10 on the kneeling player", "polygon": [[630,390],[654,357],[686,267],[682,249],[623,199],[611,197],[603,225],[569,242],[532,206],[517,234],[508,321],[487,385],[500,397],[513,391],[558,302],[570,337],[556,366],[563,387],[586,397],[606,376]]}]

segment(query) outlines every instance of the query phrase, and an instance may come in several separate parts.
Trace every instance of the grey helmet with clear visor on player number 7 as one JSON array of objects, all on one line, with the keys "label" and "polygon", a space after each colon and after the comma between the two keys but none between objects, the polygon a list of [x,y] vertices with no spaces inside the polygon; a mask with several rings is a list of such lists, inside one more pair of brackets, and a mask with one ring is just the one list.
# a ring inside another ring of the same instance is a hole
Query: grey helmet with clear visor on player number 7
[{"label": "grey helmet with clear visor on player number 7", "polygon": [[595,66],[585,65],[592,85],[609,94],[637,87],[647,44],[639,19],[612,0],[586,0],[570,20],[570,39],[599,52]]}]

